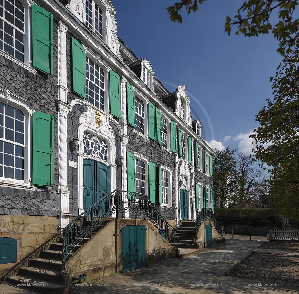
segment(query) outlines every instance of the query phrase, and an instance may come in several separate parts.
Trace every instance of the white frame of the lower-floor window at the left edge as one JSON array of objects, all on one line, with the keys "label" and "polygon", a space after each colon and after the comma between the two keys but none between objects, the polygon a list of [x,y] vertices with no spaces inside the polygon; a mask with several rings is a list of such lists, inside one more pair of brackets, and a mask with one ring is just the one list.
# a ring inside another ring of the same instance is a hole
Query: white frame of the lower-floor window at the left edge
[{"label": "white frame of the lower-floor window at the left edge", "polygon": [[[7,99],[6,97],[9,96]],[[0,101],[4,104],[8,104],[21,110],[25,115],[25,125],[24,125],[24,181],[0,178],[0,185],[8,187],[19,187],[29,190],[36,190],[35,186],[31,186],[31,148],[32,148],[32,114],[36,110],[33,106],[22,98],[14,97],[8,91],[0,91]]]}]

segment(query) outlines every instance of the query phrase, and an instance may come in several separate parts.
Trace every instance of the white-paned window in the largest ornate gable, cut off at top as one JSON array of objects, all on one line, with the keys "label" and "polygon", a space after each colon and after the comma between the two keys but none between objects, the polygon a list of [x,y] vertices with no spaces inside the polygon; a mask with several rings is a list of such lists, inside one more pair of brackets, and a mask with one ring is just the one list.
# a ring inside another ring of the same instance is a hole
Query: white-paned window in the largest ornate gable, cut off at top
[{"label": "white-paned window in the largest ornate gable, cut off at top", "polygon": [[93,0],[86,0],[85,20],[86,25],[103,40],[103,10]]}]

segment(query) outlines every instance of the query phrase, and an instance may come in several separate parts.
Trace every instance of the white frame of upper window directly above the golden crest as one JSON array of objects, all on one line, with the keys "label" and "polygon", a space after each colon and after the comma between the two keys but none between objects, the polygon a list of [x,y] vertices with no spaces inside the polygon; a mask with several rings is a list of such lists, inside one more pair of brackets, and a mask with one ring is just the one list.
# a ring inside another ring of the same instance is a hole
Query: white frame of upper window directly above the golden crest
[{"label": "white frame of upper window directly above the golden crest", "polygon": [[[104,71],[104,110],[100,109],[99,107],[95,106],[94,104],[90,103],[86,100],[86,102],[91,105],[93,108],[98,109],[100,112],[105,112],[109,114],[109,65],[106,63],[99,55],[97,55],[94,51],[90,48],[85,47],[86,57],[92,60],[95,64],[97,64],[100,68]],[[110,114],[109,114],[110,115]]]}]

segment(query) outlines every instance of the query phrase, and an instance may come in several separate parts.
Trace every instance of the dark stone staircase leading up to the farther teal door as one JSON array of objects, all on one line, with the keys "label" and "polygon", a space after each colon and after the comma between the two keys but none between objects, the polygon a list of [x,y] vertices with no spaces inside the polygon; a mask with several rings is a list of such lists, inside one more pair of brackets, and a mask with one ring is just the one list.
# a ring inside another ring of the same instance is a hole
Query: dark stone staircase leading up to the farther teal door
[{"label": "dark stone staircase leading up to the farther teal door", "polygon": [[180,239],[178,248],[197,248],[195,245],[195,225],[194,222],[182,222],[176,231],[176,236]]}]

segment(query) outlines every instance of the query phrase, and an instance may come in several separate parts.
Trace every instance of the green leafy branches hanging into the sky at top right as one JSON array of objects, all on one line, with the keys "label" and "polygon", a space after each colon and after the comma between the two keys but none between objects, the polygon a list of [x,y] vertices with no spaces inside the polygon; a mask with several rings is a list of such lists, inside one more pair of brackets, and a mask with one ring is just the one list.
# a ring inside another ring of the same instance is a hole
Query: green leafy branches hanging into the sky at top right
[{"label": "green leafy branches hanging into the sky at top right", "polygon": [[[171,21],[182,23],[181,12],[185,8],[187,13],[196,12],[198,4],[205,0],[180,0],[174,6],[168,7]],[[238,9],[234,18],[226,17],[225,32],[244,36],[258,36],[271,32],[279,42],[277,51],[288,54],[292,51],[299,37],[299,19],[294,18],[294,11],[298,5],[297,0],[248,0]],[[276,23],[271,22],[273,19]],[[278,20],[276,15],[278,15]]]}]

